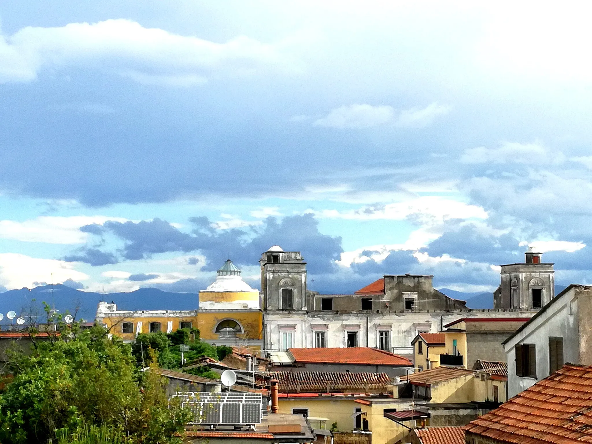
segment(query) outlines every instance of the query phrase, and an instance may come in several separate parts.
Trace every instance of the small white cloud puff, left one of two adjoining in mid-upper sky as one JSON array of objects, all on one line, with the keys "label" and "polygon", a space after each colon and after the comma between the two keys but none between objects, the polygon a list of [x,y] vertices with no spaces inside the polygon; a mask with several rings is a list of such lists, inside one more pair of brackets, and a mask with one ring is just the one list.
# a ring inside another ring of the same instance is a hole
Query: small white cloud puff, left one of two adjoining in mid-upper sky
[{"label": "small white cloud puff, left one of two adjoining in mid-upper sky", "polygon": [[395,110],[388,105],[349,105],[335,108],[327,115],[314,121],[314,126],[330,128],[369,128],[392,122]]}]

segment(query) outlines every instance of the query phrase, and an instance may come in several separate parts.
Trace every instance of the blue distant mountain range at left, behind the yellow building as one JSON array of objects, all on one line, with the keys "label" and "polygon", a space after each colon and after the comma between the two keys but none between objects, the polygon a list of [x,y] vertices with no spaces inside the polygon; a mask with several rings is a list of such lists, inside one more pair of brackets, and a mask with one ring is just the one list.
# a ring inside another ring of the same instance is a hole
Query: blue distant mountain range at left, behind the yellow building
[{"label": "blue distant mountain range at left, behind the yellow building", "polygon": [[73,313],[79,307],[77,317],[92,321],[95,318],[99,301],[114,301],[118,310],[197,310],[200,296],[197,293],[173,293],[157,288],[140,288],[132,292],[95,293],[66,287],[62,284],[44,285],[32,289],[21,288],[0,293],[0,313],[4,314],[2,324],[6,324],[8,311],[17,316],[37,311],[43,315],[43,302],[48,303],[60,313],[69,310]]}]

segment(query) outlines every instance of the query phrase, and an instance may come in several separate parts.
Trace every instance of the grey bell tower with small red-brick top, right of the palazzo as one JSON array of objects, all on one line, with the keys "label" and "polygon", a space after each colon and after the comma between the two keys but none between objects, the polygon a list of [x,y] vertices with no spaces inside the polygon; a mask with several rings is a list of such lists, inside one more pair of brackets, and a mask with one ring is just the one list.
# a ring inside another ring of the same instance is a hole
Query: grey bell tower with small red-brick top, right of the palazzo
[{"label": "grey bell tower with small red-brick top, right of the palazzo", "polygon": [[529,249],[524,263],[501,265],[500,287],[493,308],[539,310],[555,297],[553,263],[543,263],[542,253]]}]

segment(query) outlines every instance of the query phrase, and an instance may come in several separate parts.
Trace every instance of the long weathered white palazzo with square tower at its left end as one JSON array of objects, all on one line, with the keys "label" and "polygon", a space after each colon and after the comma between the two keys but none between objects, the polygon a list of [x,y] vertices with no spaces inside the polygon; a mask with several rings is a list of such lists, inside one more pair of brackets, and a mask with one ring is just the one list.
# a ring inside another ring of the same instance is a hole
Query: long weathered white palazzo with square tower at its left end
[{"label": "long weathered white palazzo with square tower at its left end", "polygon": [[[423,275],[385,275],[354,294],[318,294],[307,289],[300,252],[274,246],[259,262],[266,350],[359,346],[410,356],[418,333],[441,332],[458,318],[532,317],[539,310],[536,304],[501,299],[493,310],[471,310],[433,288],[433,276]],[[540,263],[520,265],[526,282],[542,272]],[[553,265],[545,267],[547,277],[552,275]],[[506,280],[501,279],[500,288],[510,292]],[[552,298],[552,279],[544,282],[542,293]]]}]

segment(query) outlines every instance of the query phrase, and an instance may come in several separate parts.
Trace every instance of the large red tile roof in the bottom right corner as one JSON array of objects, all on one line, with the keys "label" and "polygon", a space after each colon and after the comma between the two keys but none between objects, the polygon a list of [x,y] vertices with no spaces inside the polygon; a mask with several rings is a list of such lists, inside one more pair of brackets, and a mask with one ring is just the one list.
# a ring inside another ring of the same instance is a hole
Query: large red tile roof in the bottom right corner
[{"label": "large red tile roof in the bottom right corner", "polygon": [[516,444],[592,442],[592,366],[565,365],[464,427]]}]

